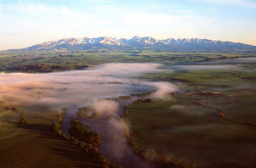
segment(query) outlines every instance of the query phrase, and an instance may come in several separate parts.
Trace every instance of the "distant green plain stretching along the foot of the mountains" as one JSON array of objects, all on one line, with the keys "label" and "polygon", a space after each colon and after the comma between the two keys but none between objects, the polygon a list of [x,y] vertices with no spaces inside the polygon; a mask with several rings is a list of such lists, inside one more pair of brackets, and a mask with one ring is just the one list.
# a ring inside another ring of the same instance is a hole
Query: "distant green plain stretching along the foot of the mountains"
[{"label": "distant green plain stretching along the foot of the mountains", "polygon": [[[0,70],[10,71],[10,68],[22,65],[37,65],[40,63],[54,66],[68,66],[67,70],[76,66],[94,65],[102,63],[161,63],[174,65],[182,63],[194,63],[205,60],[227,60],[239,57],[252,57],[255,54],[221,54],[221,53],[179,53],[179,52],[154,52],[148,50],[129,51],[38,51],[0,53]],[[22,71],[22,70],[20,70]],[[36,71],[35,71],[36,72]]]}]

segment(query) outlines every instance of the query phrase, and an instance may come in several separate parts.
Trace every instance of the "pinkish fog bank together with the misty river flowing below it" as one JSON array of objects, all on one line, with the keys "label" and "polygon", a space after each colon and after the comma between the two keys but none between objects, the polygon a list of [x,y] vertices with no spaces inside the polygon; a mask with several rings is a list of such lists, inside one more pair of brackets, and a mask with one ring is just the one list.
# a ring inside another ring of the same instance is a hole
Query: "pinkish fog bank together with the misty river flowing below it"
[{"label": "pinkish fog bank together with the misty river flowing below it", "polygon": [[[130,94],[154,91],[150,96],[159,98],[170,94],[177,88],[169,82],[152,82],[132,78],[151,72],[163,72],[160,64],[153,63],[116,63],[102,64],[79,71],[53,73],[0,73],[0,100],[12,106],[28,105],[47,107],[59,113],[67,108],[64,116],[63,131],[67,132],[69,119],[77,119],[79,107],[92,106],[99,113],[96,119],[83,119],[85,124],[97,131],[102,137],[99,151],[111,163],[127,167],[150,165],[132,152],[124,135],[118,117],[125,105],[136,99],[113,101],[115,98]],[[42,111],[39,111],[43,113]]]}]

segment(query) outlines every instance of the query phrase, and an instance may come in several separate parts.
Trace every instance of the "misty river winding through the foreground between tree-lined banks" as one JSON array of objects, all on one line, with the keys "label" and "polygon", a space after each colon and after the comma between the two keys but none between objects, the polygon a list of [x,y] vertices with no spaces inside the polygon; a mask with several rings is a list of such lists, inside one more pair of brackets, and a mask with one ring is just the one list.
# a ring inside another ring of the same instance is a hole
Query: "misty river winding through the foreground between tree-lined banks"
[{"label": "misty river winding through the foreground between tree-lined banks", "polygon": [[[130,101],[119,102],[118,116],[124,112],[125,105],[131,104]],[[62,131],[67,135],[70,116],[64,115]],[[75,118],[74,118],[75,119]],[[124,167],[155,167],[140,158],[132,151],[132,147],[122,130],[122,125],[118,117],[100,115],[95,119],[79,119],[86,125],[89,125],[92,131],[97,131],[101,135],[101,144],[97,147],[100,153],[103,153],[110,163]]]}]

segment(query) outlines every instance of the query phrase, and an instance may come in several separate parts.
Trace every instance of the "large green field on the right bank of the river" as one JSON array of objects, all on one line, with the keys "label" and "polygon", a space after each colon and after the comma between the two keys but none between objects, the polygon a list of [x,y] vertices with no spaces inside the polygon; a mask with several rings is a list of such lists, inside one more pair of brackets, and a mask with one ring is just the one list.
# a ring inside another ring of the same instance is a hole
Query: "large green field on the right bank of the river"
[{"label": "large green field on the right bank of the river", "polygon": [[138,77],[174,82],[181,90],[129,106],[124,120],[130,125],[134,152],[151,161],[168,155],[197,167],[255,166],[256,82],[246,78],[255,77],[250,69],[255,65],[235,70],[171,69]]}]

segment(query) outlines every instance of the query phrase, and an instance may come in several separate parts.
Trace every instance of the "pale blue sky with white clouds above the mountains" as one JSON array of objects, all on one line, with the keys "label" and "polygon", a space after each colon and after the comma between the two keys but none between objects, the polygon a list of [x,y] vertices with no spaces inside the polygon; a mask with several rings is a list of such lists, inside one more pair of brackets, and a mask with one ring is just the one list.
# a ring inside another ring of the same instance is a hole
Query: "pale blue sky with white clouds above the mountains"
[{"label": "pale blue sky with white clouds above the mountains", "polygon": [[0,50],[67,37],[206,38],[256,45],[254,0],[0,0]]}]

